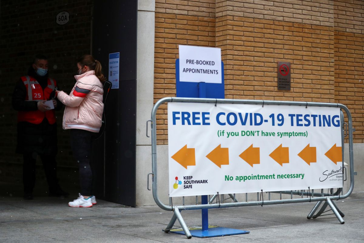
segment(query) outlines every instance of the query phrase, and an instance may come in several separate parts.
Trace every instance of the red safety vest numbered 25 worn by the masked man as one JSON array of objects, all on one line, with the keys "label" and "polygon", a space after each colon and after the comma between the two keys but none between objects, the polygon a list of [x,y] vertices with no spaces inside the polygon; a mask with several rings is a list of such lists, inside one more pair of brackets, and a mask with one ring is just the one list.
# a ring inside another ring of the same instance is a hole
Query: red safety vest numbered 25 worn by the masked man
[{"label": "red safety vest numbered 25 worn by the masked man", "polygon": [[[48,85],[44,90],[38,81],[31,76],[23,76],[21,77],[21,80],[24,82],[25,88],[27,89],[25,101],[48,100],[51,92],[57,86],[56,81],[51,78],[48,78]],[[47,118],[49,124],[54,124],[56,122],[54,109],[45,112],[40,110],[18,112],[18,122],[26,121],[32,124],[40,124],[44,117]]]}]

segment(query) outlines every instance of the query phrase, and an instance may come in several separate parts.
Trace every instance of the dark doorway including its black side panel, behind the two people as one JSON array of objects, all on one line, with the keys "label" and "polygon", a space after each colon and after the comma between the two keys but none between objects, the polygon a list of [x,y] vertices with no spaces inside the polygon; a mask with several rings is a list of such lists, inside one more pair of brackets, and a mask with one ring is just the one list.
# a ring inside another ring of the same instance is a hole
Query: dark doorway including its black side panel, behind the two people
[{"label": "dark doorway including its black side panel, behind the two people", "polygon": [[[17,112],[11,94],[35,54],[48,56],[50,77],[69,93],[80,56],[92,52],[107,77],[108,54],[120,52],[120,88],[110,90],[106,131],[95,143],[95,195],[135,206],[137,1],[86,0],[82,6],[72,0],[0,1],[0,11],[0,195],[23,196],[23,158],[15,153]],[[79,192],[78,166],[69,130],[62,129],[63,110],[56,116],[58,177],[73,200]],[[37,161],[35,198],[48,191],[42,167]]]}]

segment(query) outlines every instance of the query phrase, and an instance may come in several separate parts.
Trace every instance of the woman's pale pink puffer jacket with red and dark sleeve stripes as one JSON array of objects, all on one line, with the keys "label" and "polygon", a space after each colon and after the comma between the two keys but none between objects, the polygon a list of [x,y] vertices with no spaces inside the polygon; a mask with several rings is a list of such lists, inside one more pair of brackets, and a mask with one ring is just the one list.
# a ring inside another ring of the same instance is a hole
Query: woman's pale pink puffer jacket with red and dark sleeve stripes
[{"label": "woman's pale pink puffer jacket with red and dark sleeve stripes", "polygon": [[70,95],[59,91],[57,98],[66,105],[63,113],[63,129],[83,129],[99,132],[104,110],[103,86],[95,71],[75,75],[76,83]]}]

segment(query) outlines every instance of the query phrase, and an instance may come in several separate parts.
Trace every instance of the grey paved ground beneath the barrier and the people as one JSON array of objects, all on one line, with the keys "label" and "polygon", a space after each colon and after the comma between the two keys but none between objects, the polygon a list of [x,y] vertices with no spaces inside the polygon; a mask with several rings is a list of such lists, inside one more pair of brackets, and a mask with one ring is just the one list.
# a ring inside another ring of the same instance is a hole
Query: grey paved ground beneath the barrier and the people
[{"label": "grey paved ground beneath the barrier and the people", "polygon": [[[68,201],[1,196],[0,242],[364,242],[364,192],[336,201],[345,224],[334,215],[306,219],[314,203],[210,209],[210,225],[250,234],[205,239],[162,232],[173,213],[158,206],[131,208],[98,200],[92,208],[70,208]],[[187,226],[201,225],[200,210],[181,213]]]}]

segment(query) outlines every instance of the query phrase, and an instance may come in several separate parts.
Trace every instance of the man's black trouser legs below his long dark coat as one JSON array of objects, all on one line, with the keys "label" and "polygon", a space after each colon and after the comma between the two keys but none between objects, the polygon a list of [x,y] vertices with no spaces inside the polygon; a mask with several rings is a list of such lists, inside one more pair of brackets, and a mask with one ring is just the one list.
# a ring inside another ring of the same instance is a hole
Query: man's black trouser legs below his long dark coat
[{"label": "man's black trouser legs below his long dark coat", "polygon": [[[23,184],[24,193],[32,193],[35,185],[35,162],[38,154],[33,153],[23,153]],[[40,159],[43,163],[44,172],[46,174],[49,189],[53,190],[58,187],[57,179],[57,164],[55,155],[41,155]]]}]

